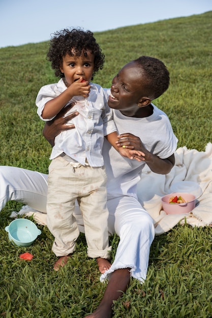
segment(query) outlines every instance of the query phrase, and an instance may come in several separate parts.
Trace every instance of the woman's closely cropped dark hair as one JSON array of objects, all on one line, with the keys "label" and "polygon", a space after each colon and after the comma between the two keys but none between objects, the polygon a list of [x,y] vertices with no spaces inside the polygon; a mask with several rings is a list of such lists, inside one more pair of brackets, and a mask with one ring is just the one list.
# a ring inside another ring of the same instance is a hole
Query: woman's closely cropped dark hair
[{"label": "woman's closely cropped dark hair", "polygon": [[151,100],[161,96],[169,87],[169,71],[165,64],[158,58],[140,56],[134,60],[140,67],[145,78],[145,90]]}]

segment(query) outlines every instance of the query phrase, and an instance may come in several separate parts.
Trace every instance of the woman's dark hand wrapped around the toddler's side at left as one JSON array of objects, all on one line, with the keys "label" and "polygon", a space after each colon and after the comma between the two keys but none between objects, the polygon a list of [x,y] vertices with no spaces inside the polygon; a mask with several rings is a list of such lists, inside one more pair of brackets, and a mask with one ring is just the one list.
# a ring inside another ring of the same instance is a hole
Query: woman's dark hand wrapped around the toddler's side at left
[{"label": "woman's dark hand wrapped around the toddler's side at left", "polygon": [[54,138],[60,134],[64,130],[74,129],[74,124],[67,124],[67,122],[74,117],[76,117],[79,113],[74,112],[66,117],[66,113],[75,105],[75,103],[71,103],[67,107],[60,110],[60,112],[50,121],[46,121],[43,129],[43,136],[48,140],[48,142],[53,147]]}]

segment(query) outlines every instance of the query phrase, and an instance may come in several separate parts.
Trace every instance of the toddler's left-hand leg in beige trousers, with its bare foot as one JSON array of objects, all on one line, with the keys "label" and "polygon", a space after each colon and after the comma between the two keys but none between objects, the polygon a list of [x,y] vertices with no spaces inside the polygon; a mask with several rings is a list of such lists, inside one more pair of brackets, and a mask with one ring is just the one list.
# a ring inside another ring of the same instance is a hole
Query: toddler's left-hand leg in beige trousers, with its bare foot
[{"label": "toddler's left-hand leg in beige trousers, with its bare foot", "polygon": [[[52,160],[48,178],[47,226],[54,236],[52,251],[58,257],[73,253],[75,241],[79,236],[77,222],[73,216],[76,191],[78,183],[74,168],[62,157]],[[61,261],[66,260],[67,258]]]}]

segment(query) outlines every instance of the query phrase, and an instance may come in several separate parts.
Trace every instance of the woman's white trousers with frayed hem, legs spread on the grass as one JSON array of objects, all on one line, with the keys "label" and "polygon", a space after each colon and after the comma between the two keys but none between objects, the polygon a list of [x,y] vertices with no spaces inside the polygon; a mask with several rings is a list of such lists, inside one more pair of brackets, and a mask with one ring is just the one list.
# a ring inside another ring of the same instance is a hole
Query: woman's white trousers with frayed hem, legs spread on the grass
[{"label": "woman's white trousers with frayed hem, legs spread on the grass", "polygon": [[[7,201],[15,200],[46,212],[48,175],[21,168],[0,166],[0,209]],[[153,219],[132,197],[118,197],[107,201],[109,234],[117,233],[120,242],[111,268],[101,280],[116,269],[131,268],[131,275],[141,282],[146,278],[149,249],[155,236]],[[75,214],[77,224],[82,220]],[[82,231],[82,227],[80,231]]]}]

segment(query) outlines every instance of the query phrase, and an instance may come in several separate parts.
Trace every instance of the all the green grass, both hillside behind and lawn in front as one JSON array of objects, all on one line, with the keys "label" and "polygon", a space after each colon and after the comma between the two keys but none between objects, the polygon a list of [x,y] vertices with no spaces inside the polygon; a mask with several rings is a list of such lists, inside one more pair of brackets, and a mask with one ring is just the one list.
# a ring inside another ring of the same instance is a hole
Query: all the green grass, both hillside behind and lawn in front
[{"label": "all the green grass, both hillside behind and lawn in front", "polygon": [[[206,12],[96,33],[106,61],[94,81],[110,87],[117,71],[139,55],[162,59],[171,84],[155,104],[168,114],[178,147],[202,151],[211,142],[211,26],[212,12]],[[48,171],[51,147],[35,106],[40,87],[57,80],[45,59],[47,49],[47,42],[0,49],[1,165]],[[1,212],[0,316],[78,318],[92,312],[106,285],[95,260],[86,256],[84,235],[67,267],[54,272],[53,237],[46,227],[39,226],[42,234],[28,248],[8,241],[9,215],[20,208],[9,202]],[[146,281],[131,281],[114,303],[114,318],[210,318],[211,241],[211,228],[188,225],[156,237]],[[113,258],[117,235],[110,242]],[[31,262],[19,259],[24,251],[34,255]]]}]

